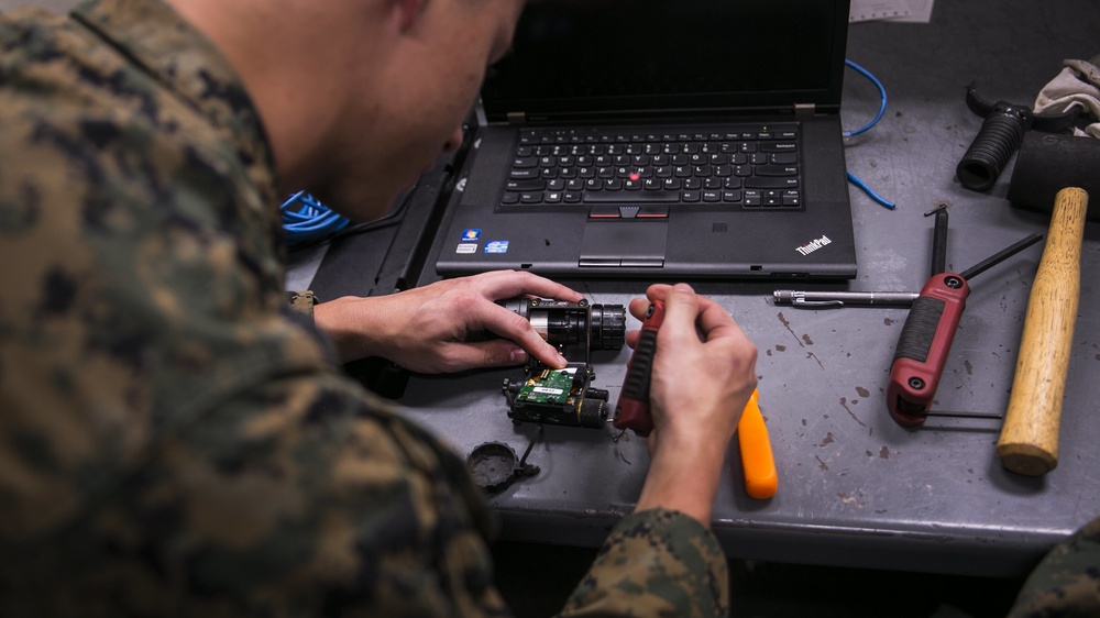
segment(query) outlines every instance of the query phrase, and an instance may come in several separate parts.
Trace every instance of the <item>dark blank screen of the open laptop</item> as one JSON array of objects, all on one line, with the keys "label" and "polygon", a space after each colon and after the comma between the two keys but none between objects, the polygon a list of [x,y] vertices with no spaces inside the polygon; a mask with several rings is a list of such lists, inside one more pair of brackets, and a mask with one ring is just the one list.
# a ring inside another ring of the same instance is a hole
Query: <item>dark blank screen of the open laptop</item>
[{"label": "dark blank screen of the open laptop", "polygon": [[847,0],[528,0],[490,121],[838,109]]}]

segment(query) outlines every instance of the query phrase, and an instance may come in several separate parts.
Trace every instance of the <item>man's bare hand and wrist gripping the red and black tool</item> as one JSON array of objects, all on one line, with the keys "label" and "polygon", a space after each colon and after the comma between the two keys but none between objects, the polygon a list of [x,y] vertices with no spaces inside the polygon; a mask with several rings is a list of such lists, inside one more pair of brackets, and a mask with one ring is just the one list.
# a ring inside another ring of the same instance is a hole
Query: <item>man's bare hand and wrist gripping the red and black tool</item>
[{"label": "man's bare hand and wrist gripping the red and black tool", "polygon": [[[651,463],[638,510],[664,507],[710,525],[722,463],[756,388],[756,345],[717,302],[685,284],[653,285],[630,302],[642,319],[664,301],[650,377]],[[627,334],[638,343],[639,331]]]}]

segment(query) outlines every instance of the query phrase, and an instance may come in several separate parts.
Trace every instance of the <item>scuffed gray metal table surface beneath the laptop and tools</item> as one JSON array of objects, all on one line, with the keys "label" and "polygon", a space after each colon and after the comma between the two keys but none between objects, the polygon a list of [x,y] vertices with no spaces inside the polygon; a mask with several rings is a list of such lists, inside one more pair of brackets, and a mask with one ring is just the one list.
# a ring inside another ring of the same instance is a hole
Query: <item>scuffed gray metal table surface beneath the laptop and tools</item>
[{"label": "scuffed gray metal table surface beneath the laptop and tools", "polygon": [[[1082,0],[941,1],[931,24],[854,24],[848,57],[882,80],[890,103],[875,129],[848,139],[847,165],[898,208],[888,210],[851,187],[858,277],[800,287],[919,291],[932,250],[933,219],[924,213],[937,201],[950,205],[950,269],[1032,232],[1045,233],[1047,217],[1014,209],[1004,198],[1011,165],[987,194],[954,179],[981,124],[966,109],[965,88],[975,82],[987,98],[1031,103],[1063,59],[1100,54],[1098,35],[1100,3]],[[845,126],[862,125],[877,108],[877,90],[849,70]],[[1004,412],[1041,254],[1042,244],[1033,246],[972,282],[934,409]],[[429,268],[420,283],[432,278]],[[779,307],[771,291],[789,284],[695,282],[759,347],[760,402],[780,476],[773,498],[747,497],[732,446],[713,522],[727,553],[941,573],[1026,573],[1055,542],[1100,516],[1098,280],[1100,224],[1090,222],[1060,461],[1040,478],[1001,467],[998,420],[930,419],[911,430],[889,417],[886,385],[905,309]],[[593,302],[613,305],[645,289],[644,282],[565,283]],[[609,390],[612,401],[628,355],[626,349],[594,354],[594,386]],[[537,429],[514,426],[501,394],[504,378],[521,375],[414,376],[402,402],[462,452],[502,441],[522,453]],[[598,544],[632,509],[648,465],[642,440],[617,435],[610,427],[546,428],[528,460],[541,472],[491,497],[505,538]]]}]

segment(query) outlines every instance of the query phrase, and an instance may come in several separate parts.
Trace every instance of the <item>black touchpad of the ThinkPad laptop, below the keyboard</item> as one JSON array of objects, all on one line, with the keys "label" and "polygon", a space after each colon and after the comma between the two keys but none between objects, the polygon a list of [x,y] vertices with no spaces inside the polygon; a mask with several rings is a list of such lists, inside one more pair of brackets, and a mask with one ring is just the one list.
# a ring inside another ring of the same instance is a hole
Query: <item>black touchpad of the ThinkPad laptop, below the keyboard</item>
[{"label": "black touchpad of the ThinkPad laptop, below the keyboard", "polygon": [[652,220],[588,220],[581,241],[581,266],[660,268],[669,222]]}]

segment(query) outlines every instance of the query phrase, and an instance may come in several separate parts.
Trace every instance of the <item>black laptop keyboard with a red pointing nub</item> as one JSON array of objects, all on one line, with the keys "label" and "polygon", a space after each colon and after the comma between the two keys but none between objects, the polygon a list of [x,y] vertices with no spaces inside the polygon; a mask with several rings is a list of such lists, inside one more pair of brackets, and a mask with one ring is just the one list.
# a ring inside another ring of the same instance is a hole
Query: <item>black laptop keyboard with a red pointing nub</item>
[{"label": "black laptop keyboard with a red pointing nub", "polygon": [[800,161],[798,123],[525,129],[501,203],[798,209]]}]

